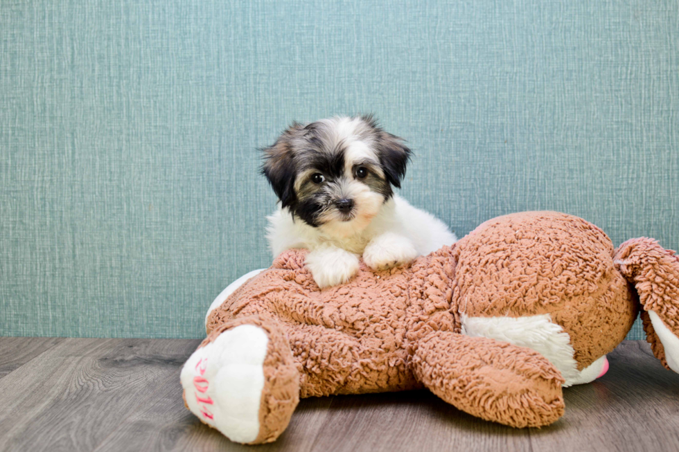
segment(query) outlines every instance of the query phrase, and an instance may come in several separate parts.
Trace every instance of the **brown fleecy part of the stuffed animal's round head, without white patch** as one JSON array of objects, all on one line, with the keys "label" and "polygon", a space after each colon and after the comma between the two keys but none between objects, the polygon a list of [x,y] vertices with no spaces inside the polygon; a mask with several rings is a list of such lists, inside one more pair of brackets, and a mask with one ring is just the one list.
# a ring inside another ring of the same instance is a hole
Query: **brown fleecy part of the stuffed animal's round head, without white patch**
[{"label": "brown fleecy part of the stuffed animal's round head, without white patch", "polygon": [[635,316],[608,236],[584,219],[524,212],[485,222],[455,246],[456,298],[470,317],[549,314],[579,368],[610,352]]}]

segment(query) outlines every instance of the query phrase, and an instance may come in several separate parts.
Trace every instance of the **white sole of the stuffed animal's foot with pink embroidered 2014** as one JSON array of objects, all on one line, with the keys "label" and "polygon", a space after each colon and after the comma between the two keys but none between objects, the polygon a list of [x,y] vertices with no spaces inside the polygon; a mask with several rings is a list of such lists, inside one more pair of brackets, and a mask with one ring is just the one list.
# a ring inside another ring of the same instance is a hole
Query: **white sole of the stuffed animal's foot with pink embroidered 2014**
[{"label": "white sole of the stuffed animal's foot with pink embroidered 2014", "polygon": [[193,352],[182,368],[188,408],[231,441],[252,442],[259,433],[268,342],[260,327],[240,325]]}]

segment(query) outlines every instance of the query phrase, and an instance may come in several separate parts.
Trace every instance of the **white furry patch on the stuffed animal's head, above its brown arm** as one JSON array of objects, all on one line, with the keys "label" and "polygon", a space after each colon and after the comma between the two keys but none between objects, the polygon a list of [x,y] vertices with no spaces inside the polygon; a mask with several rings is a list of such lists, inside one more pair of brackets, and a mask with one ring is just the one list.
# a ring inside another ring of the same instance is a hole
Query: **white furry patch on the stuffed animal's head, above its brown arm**
[{"label": "white furry patch on the stuffed animal's head, above its brown arm", "polygon": [[[468,317],[462,314],[462,334],[487,337],[527,347],[545,356],[565,379],[564,387],[578,381],[581,372],[574,359],[570,336],[552,322],[549,314],[526,317]],[[598,375],[598,374],[597,374]]]}]

